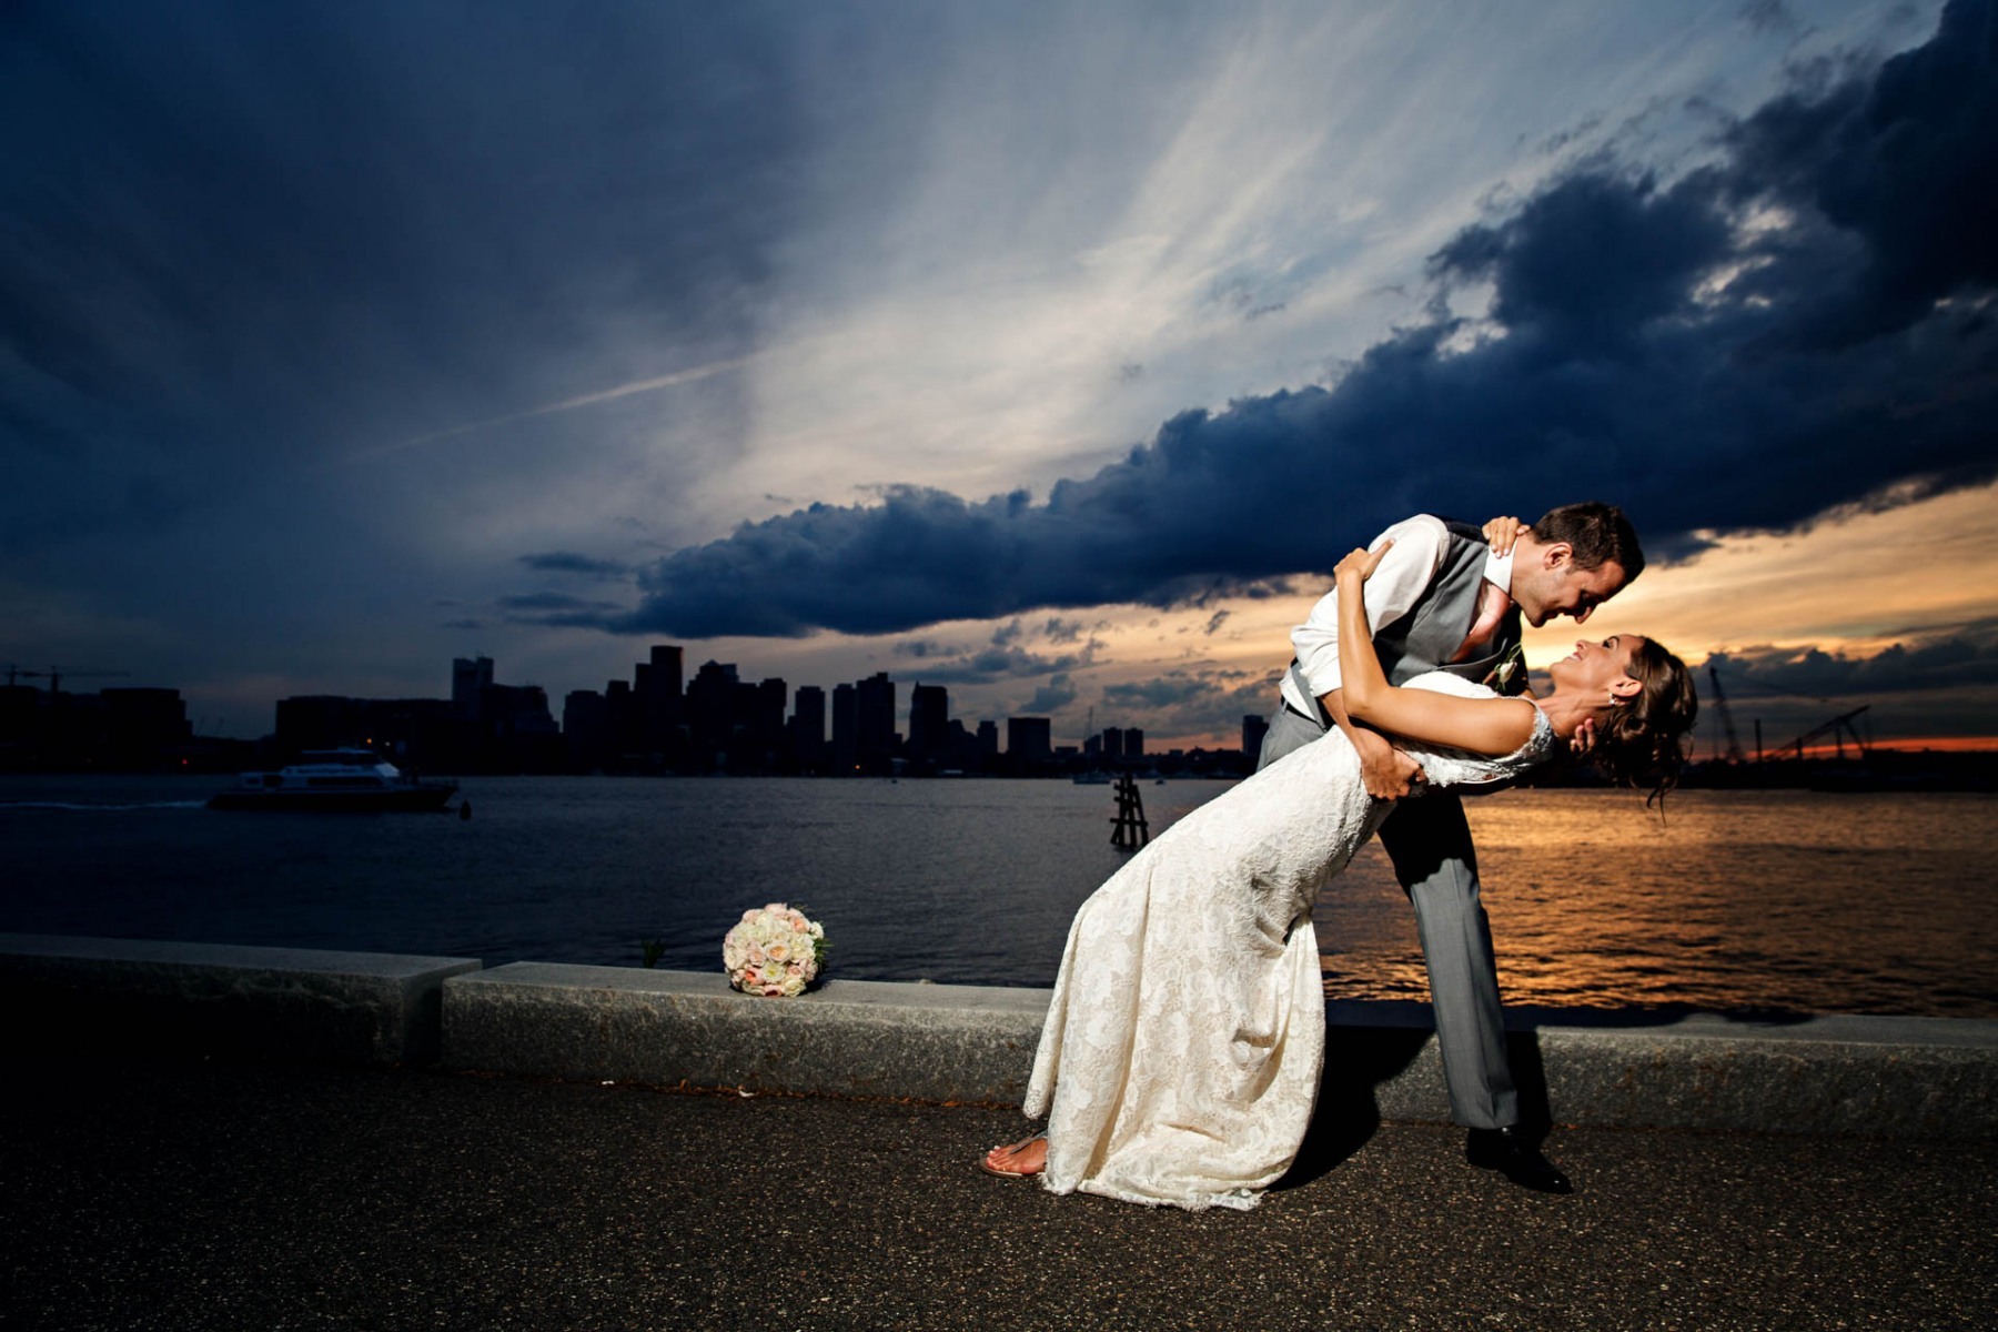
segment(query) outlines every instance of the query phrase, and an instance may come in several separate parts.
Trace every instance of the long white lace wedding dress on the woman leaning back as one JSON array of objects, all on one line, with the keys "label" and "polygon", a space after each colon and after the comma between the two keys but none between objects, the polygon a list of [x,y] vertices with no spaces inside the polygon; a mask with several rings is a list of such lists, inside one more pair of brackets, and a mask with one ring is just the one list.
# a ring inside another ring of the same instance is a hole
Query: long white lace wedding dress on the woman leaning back
[{"label": "long white lace wedding dress on the woman leaning back", "polygon": [[[1445,673],[1409,685],[1491,697]],[[1552,749],[1536,707],[1502,759],[1411,755],[1429,785],[1467,787]],[[1049,1116],[1049,1190],[1257,1204],[1305,1140],[1325,1064],[1311,909],[1391,809],[1333,731],[1175,823],[1083,903],[1027,1086],[1027,1114]]]}]

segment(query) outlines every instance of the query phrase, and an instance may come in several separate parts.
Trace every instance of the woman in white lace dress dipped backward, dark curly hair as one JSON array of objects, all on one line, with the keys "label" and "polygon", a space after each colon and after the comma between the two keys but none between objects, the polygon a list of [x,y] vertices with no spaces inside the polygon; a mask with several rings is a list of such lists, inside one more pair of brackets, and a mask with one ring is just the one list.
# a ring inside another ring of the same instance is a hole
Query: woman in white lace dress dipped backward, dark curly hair
[{"label": "woman in white lace dress dipped backward, dark curly hair", "polygon": [[[1441,671],[1389,685],[1363,593],[1389,545],[1339,561],[1339,667],[1347,711],[1395,735],[1427,785],[1508,781],[1586,727],[1612,779],[1654,799],[1672,785],[1696,701],[1650,639],[1576,643],[1540,701]],[[1047,1128],[981,1166],[1063,1194],[1255,1206],[1305,1140],[1325,1064],[1311,907],[1391,809],[1331,731],[1133,857],[1069,927],[1025,1104]]]}]

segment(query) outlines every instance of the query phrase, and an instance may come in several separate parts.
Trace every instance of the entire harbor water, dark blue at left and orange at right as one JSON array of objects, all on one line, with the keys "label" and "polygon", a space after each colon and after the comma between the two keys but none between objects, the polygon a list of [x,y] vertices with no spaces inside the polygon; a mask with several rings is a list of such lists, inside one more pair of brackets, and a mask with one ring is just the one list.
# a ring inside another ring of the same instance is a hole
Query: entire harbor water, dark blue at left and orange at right
[{"label": "entire harbor water, dark blue at left and orange at right", "polygon": [[[220,813],[226,779],[0,779],[0,931],[719,967],[807,907],[833,977],[1049,985],[1123,865],[1109,787],[468,779],[474,817]],[[1145,785],[1153,833],[1229,783]],[[1998,1016],[1998,797],[1614,791],[1467,801],[1508,1002]],[[1327,993],[1423,999],[1379,847],[1317,911]]]}]

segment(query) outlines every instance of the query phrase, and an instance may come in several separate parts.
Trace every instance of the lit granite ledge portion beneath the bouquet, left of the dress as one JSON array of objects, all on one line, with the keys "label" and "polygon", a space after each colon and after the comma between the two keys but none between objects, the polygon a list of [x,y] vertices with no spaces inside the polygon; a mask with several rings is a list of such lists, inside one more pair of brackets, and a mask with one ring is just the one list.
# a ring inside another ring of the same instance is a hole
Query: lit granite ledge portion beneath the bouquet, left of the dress
[{"label": "lit granite ledge portion beneath the bouquet, left of the dress", "polygon": [[839,1096],[1019,1102],[1047,991],[511,963],[444,987],[450,1068]]}]

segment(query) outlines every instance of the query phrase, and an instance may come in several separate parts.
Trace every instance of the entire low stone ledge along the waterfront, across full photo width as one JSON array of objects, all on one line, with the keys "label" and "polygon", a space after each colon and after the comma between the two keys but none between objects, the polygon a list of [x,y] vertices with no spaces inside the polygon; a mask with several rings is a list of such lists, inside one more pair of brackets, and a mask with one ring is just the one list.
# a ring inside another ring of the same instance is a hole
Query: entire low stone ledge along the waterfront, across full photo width
[{"label": "entire low stone ledge along the waterfront, across full photo width", "polygon": [[[719,973],[0,935],[8,1048],[54,1058],[442,1058],[557,1078],[1017,1104],[1047,991],[833,981],[751,999]],[[1443,1120],[1427,1004],[1327,1004],[1321,1120]],[[1998,1136],[1998,1022],[1514,1010],[1528,1120]]]}]

